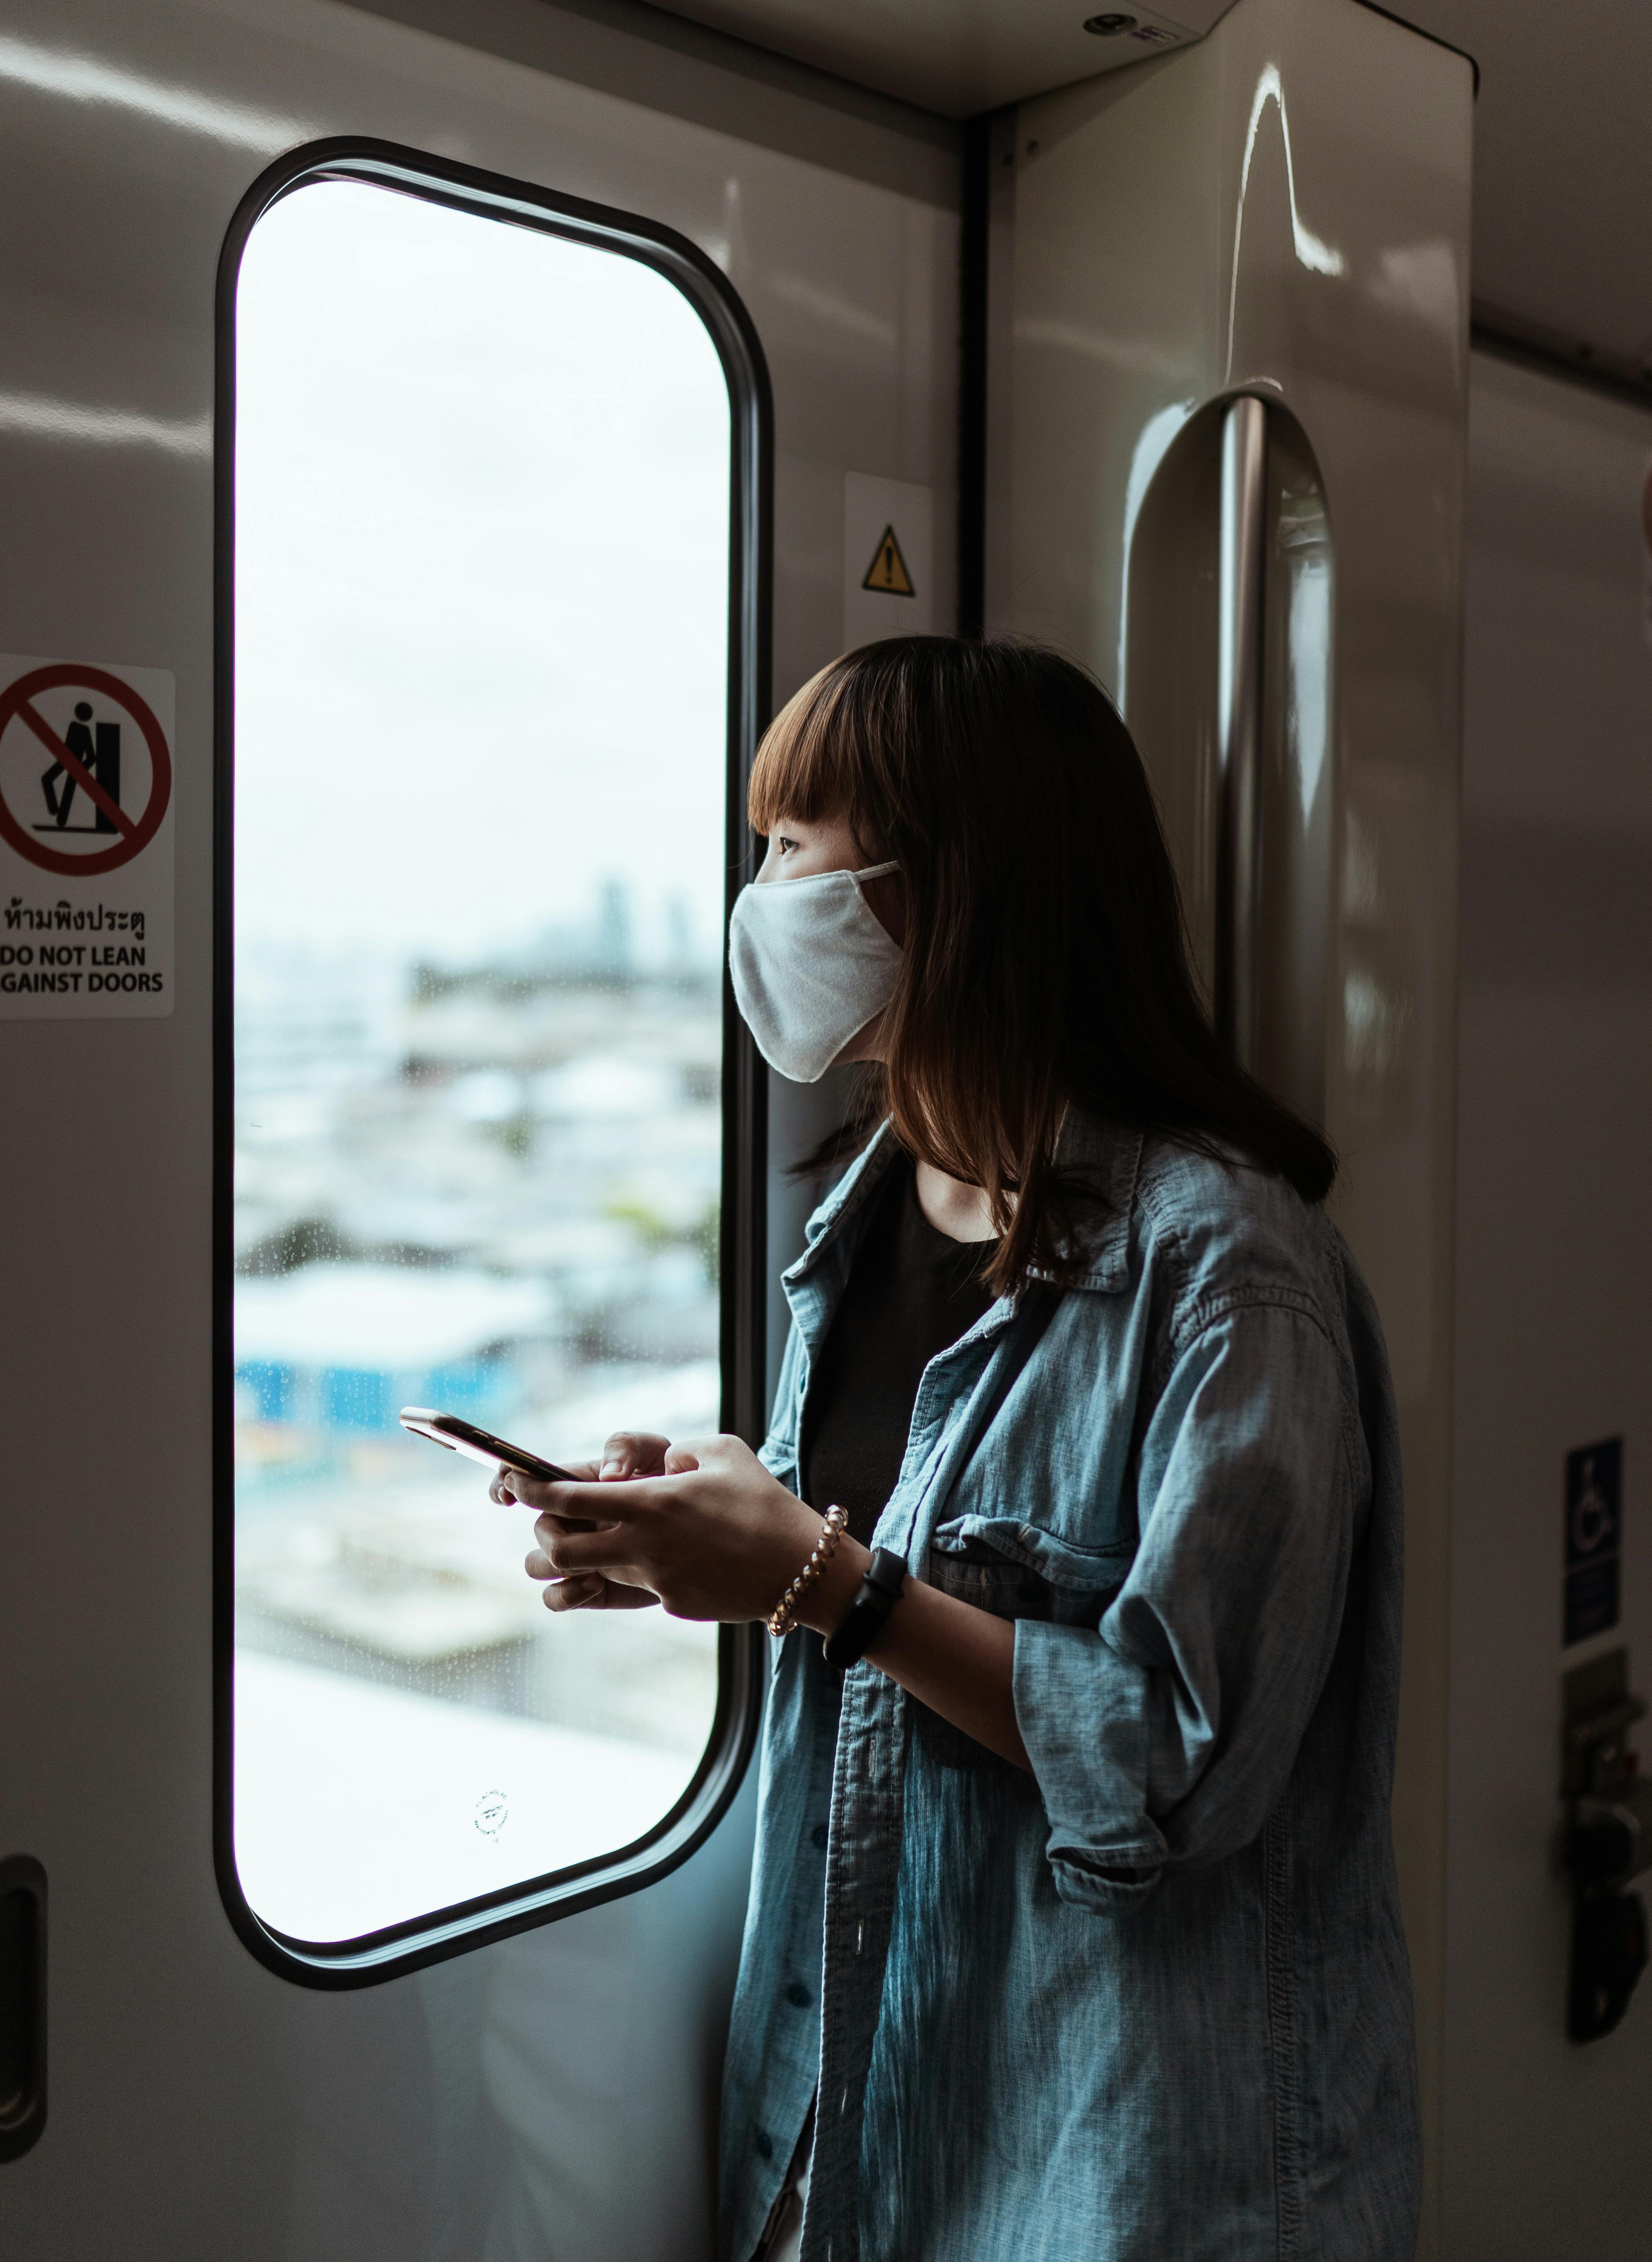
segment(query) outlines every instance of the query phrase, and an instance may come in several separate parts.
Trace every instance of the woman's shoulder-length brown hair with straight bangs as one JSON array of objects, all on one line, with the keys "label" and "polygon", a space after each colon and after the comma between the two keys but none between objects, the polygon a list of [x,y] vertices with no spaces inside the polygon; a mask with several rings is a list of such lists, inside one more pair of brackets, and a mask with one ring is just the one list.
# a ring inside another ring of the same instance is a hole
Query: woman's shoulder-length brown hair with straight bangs
[{"label": "woman's shoulder-length brown hair with straight bangs", "polygon": [[905,943],[862,1136],[987,1192],[989,1271],[1068,1269],[1057,1172],[1070,1104],[1202,1154],[1238,1151],[1319,1201],[1335,1154],[1238,1065],[1204,1013],[1147,774],[1107,692],[1041,645],[903,636],[824,667],[769,726],[751,826],[846,817],[894,857]]}]

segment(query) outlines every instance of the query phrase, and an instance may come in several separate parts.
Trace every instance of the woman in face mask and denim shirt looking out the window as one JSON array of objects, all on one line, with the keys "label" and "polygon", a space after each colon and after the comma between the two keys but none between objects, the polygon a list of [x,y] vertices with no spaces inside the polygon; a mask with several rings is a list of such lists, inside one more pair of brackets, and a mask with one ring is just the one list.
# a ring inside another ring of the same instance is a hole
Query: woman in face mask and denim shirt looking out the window
[{"label": "woman in face mask and denim shirt looking out the window", "polygon": [[554,1611],[776,1631],[724,2253],[806,2194],[803,2262],[1401,2262],[1399,1464],[1331,1149],[1213,1038],[1059,656],[835,661],[751,823],[742,1011],[885,1117],[772,1434],[509,1479]]}]

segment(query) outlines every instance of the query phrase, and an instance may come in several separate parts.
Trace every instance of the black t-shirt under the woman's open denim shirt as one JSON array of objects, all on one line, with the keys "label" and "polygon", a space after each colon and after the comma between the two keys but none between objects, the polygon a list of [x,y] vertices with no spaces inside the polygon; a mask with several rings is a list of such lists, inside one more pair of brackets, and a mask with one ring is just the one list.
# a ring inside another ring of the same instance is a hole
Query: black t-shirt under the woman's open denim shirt
[{"label": "black t-shirt under the woman's open denim shirt", "polygon": [[982,1274],[998,1253],[998,1242],[935,1231],[910,1156],[889,1167],[874,1203],[810,1375],[799,1457],[803,1500],[821,1516],[846,1509],[862,1545],[901,1475],[923,1369],[993,1303]]}]

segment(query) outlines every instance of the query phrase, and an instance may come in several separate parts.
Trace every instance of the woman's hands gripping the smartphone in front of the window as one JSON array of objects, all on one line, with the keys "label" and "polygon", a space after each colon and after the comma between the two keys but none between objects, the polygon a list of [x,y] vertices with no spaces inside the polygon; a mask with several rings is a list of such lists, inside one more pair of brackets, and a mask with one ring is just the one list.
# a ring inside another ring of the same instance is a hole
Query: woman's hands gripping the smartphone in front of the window
[{"label": "woman's hands gripping the smartphone in front of the window", "polygon": [[672,1445],[663,1475],[625,1484],[536,1484],[511,1470],[509,1488],[541,1511],[530,1579],[647,1588],[672,1617],[767,1617],[821,1531],[738,1436]]}]

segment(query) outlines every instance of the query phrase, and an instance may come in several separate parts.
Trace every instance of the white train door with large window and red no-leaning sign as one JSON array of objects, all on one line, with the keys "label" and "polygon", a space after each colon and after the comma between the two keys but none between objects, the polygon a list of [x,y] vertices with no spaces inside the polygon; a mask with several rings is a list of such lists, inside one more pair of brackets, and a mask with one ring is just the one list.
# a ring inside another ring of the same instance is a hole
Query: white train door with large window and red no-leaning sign
[{"label": "white train door with large window and red no-leaning sign", "polygon": [[738,769],[846,498],[953,620],[960,165],[475,36],[0,34],[9,2253],[711,2251],[751,1649],[557,1647],[394,1411],[760,1418]]}]

